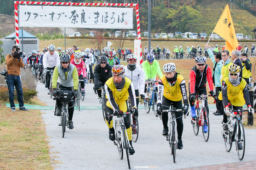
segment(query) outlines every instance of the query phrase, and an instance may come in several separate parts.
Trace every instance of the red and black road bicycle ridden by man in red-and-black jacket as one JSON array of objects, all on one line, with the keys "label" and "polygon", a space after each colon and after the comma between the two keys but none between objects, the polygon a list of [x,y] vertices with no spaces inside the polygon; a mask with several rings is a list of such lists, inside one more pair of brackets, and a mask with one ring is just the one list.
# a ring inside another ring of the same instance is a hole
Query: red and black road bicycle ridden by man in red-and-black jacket
[{"label": "red and black road bicycle ridden by man in red-and-black jacket", "polygon": [[[210,132],[210,124],[209,124],[209,114],[205,107],[205,100],[207,96],[211,95],[198,95],[196,96],[196,117],[191,119],[191,124],[193,126],[194,134],[197,135],[199,132],[199,127],[202,126],[202,133],[204,141],[208,141],[209,132]],[[201,108],[199,107],[199,103],[202,104]],[[203,127],[207,126],[208,131],[204,132]]]}]

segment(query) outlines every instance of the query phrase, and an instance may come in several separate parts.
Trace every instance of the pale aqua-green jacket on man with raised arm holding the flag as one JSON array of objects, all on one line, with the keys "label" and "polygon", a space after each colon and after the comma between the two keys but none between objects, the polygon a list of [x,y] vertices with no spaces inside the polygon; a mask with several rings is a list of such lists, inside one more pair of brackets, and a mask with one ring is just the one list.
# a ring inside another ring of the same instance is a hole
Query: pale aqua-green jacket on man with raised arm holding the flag
[{"label": "pale aqua-green jacket on man with raised arm holding the flag", "polygon": [[[209,56],[211,58],[211,61],[213,61],[213,64],[215,65],[216,62],[215,62],[215,59],[214,59],[213,52],[211,51],[211,49],[208,49],[207,52],[208,52],[208,54],[209,54]],[[220,77],[221,77],[221,68],[222,68],[222,66],[223,66],[223,61],[220,60],[220,62],[217,63],[215,71],[213,71],[213,69],[212,69],[213,76],[214,76],[213,79],[214,79],[214,83],[215,83],[214,86],[215,87],[221,87],[221,79],[220,79]]]}]

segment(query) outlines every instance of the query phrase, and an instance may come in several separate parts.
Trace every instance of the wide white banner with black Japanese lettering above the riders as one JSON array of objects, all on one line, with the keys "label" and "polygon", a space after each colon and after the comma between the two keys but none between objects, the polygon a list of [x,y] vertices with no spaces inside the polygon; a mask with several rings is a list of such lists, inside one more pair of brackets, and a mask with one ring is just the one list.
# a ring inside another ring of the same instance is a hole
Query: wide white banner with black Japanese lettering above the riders
[{"label": "wide white banner with black Japanese lettering above the riders", "polygon": [[19,27],[133,28],[133,8],[19,5]]}]

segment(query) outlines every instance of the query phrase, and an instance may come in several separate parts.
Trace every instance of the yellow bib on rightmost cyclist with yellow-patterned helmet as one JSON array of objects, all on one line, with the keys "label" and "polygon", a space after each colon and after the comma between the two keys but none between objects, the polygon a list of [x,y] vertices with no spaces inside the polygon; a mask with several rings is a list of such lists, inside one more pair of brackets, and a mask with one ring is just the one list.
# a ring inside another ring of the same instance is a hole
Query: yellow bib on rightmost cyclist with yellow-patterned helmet
[{"label": "yellow bib on rightmost cyclist with yellow-patterned helmet", "polygon": [[[233,84],[229,82],[228,77],[223,81],[227,84],[228,101],[234,106],[243,106],[245,103],[243,89],[247,84],[246,81],[242,79],[238,86],[233,86]],[[222,91],[218,99],[222,100]]]}]

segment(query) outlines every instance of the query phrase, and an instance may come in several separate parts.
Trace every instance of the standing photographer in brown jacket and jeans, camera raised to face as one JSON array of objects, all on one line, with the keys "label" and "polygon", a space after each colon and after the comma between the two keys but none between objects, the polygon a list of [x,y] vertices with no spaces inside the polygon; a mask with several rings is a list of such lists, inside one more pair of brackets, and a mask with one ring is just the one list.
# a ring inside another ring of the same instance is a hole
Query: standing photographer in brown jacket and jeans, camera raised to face
[{"label": "standing photographer in brown jacket and jeans, camera raised to face", "polygon": [[11,105],[11,111],[15,110],[14,104],[14,86],[17,91],[17,99],[19,102],[19,110],[28,111],[24,107],[23,102],[23,90],[20,80],[20,68],[24,67],[23,61],[21,59],[22,52],[20,52],[20,46],[13,46],[12,53],[6,55],[6,65],[7,65],[7,76],[6,83],[9,90],[9,102]]}]

